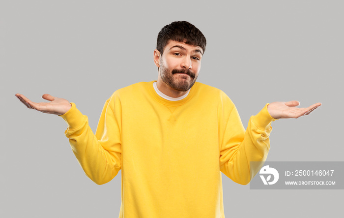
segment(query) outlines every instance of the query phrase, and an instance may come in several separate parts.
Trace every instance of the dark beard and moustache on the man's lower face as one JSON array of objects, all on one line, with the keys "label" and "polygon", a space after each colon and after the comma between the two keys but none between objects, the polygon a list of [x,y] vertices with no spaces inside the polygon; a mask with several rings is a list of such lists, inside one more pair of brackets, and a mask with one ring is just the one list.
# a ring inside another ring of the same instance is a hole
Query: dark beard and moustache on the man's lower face
[{"label": "dark beard and moustache on the man's lower face", "polygon": [[[176,73],[182,73],[190,76],[190,81],[184,80],[184,79],[178,79],[174,77],[173,75]],[[191,72],[188,69],[173,69],[170,71],[167,69],[162,62],[160,63],[160,77],[161,80],[166,83],[168,86],[170,86],[172,89],[186,92],[195,84],[198,75],[196,76],[195,73]]]}]

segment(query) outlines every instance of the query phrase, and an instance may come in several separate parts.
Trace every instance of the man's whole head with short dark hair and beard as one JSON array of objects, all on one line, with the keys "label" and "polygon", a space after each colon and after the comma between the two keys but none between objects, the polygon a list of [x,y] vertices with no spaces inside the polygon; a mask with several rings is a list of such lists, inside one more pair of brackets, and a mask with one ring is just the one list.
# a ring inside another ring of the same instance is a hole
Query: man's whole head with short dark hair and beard
[{"label": "man's whole head with short dark hair and beard", "polygon": [[186,21],[172,22],[158,34],[154,62],[159,80],[173,90],[186,92],[198,77],[205,50],[204,35]]}]

